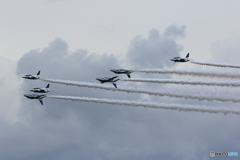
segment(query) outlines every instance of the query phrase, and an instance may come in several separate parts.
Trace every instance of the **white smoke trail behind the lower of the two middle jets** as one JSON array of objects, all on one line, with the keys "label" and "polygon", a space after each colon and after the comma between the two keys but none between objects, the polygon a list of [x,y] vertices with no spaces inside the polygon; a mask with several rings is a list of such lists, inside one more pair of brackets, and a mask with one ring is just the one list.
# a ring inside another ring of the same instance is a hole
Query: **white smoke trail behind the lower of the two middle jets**
[{"label": "white smoke trail behind the lower of the two middle jets", "polygon": [[143,79],[143,78],[128,78],[121,79],[121,81],[128,82],[150,82],[150,83],[164,83],[164,84],[188,84],[188,85],[208,85],[208,86],[227,86],[239,87],[239,81],[207,81],[207,80],[185,80],[185,79]]}]

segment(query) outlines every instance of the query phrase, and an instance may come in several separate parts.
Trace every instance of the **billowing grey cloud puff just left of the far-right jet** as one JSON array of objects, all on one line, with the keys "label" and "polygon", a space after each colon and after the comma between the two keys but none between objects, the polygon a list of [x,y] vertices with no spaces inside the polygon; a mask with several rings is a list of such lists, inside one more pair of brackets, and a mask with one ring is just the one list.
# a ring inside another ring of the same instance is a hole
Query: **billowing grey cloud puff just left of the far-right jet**
[{"label": "billowing grey cloud puff just left of the far-right jet", "polygon": [[171,67],[173,63],[169,59],[179,56],[183,50],[176,38],[184,36],[184,32],[185,26],[179,28],[175,25],[169,26],[163,35],[152,29],[148,38],[139,35],[131,41],[126,56],[137,69]]}]

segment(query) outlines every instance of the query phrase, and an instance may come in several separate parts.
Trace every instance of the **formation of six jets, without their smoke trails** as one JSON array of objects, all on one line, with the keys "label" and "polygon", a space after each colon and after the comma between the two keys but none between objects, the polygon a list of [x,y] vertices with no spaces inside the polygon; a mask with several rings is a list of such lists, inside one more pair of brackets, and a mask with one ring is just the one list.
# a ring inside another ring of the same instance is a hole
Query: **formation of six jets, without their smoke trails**
[{"label": "formation of six jets, without their smoke trails", "polygon": [[[185,58],[181,58],[181,57],[174,57],[173,59],[170,59],[170,61],[174,61],[174,62],[188,62],[190,61],[189,59],[189,53],[186,55]],[[130,74],[132,72],[134,72],[133,70],[127,70],[127,69],[111,69],[111,72],[115,73],[115,74],[126,74],[128,76],[128,78],[131,78]],[[116,82],[120,79],[116,79],[118,76],[114,76],[114,77],[103,77],[103,78],[96,78],[96,80],[100,81],[101,83],[112,83],[113,86],[115,88],[117,88]],[[25,79],[32,79],[32,80],[36,80],[36,79],[40,79],[40,71],[38,71],[38,73],[36,75],[25,75],[22,78]],[[30,89],[31,92],[34,93],[48,93],[50,92],[50,84],[48,84],[46,86],[46,88],[33,88]],[[38,99],[40,101],[40,103],[43,105],[43,101],[42,99],[47,97],[46,95],[42,94],[42,95],[38,95],[38,94],[25,94],[25,97],[27,97],[28,99]]]}]

